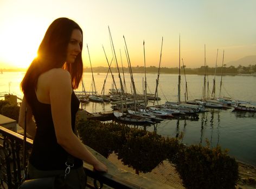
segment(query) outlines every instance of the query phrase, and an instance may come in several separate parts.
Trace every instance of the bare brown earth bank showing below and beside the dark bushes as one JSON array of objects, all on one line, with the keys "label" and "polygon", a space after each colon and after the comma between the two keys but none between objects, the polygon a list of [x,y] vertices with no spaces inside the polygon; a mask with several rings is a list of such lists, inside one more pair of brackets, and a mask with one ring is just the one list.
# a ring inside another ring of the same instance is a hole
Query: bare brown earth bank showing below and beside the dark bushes
[{"label": "bare brown earth bank showing below and beside the dark bushes", "polygon": [[[121,160],[119,160],[117,155],[114,153],[108,157],[108,160],[110,160],[118,168],[135,173],[133,168],[123,165]],[[167,160],[163,161],[163,164],[158,165],[150,173],[139,174],[140,176],[160,181],[177,189],[185,188],[182,185],[182,180],[176,172],[174,165],[171,165]],[[256,167],[239,162],[239,180],[237,182],[236,189],[252,188],[256,188]]]}]

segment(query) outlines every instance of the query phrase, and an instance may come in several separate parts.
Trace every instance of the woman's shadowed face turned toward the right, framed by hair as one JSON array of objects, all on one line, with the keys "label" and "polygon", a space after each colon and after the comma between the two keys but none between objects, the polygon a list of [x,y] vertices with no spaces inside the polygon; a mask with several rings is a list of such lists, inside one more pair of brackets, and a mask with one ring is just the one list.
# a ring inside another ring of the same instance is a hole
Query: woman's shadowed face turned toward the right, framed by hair
[{"label": "woman's shadowed face turned toward the right, framed by hair", "polygon": [[82,33],[78,29],[74,29],[67,49],[67,63],[74,63],[76,56],[81,52]]}]

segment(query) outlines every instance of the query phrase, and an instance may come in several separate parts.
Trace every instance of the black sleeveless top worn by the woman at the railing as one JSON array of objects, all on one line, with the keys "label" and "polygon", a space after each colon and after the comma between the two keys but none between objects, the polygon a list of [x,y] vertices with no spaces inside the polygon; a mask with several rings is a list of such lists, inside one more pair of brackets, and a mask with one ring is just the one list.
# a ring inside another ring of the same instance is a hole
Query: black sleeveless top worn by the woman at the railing
[{"label": "black sleeveless top worn by the woman at the railing", "polygon": [[[60,94],[61,95],[61,94]],[[68,153],[57,144],[50,104],[39,102],[36,93],[30,96],[29,104],[33,111],[37,130],[29,162],[39,170],[65,170]],[[73,91],[71,96],[71,123],[74,131],[75,114],[79,109],[79,100]],[[82,160],[74,157],[74,167],[82,166]]]}]

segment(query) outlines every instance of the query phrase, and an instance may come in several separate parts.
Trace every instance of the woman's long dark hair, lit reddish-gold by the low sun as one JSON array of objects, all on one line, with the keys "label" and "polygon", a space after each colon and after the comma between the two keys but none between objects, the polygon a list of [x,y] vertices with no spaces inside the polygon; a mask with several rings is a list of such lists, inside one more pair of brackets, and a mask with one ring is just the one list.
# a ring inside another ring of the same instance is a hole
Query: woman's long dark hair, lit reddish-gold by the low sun
[{"label": "woman's long dark hair, lit reddish-gold by the low sun", "polygon": [[36,90],[37,80],[42,73],[54,68],[68,70],[72,78],[72,88],[78,88],[83,70],[82,45],[75,62],[65,63],[67,46],[74,29],[79,29],[82,33],[80,26],[68,18],[57,18],[50,24],[37,50],[37,57],[30,64],[21,82],[21,89],[25,96],[30,96],[31,92]]}]

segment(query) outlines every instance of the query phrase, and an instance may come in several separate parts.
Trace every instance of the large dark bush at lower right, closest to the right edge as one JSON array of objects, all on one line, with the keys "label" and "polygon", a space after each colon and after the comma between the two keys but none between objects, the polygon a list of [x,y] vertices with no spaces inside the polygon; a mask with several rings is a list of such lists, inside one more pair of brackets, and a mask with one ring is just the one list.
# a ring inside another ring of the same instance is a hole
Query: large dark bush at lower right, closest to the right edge
[{"label": "large dark bush at lower right, closest to the right edge", "polygon": [[186,188],[234,188],[238,163],[222,151],[201,145],[183,146],[177,158],[170,158]]}]

